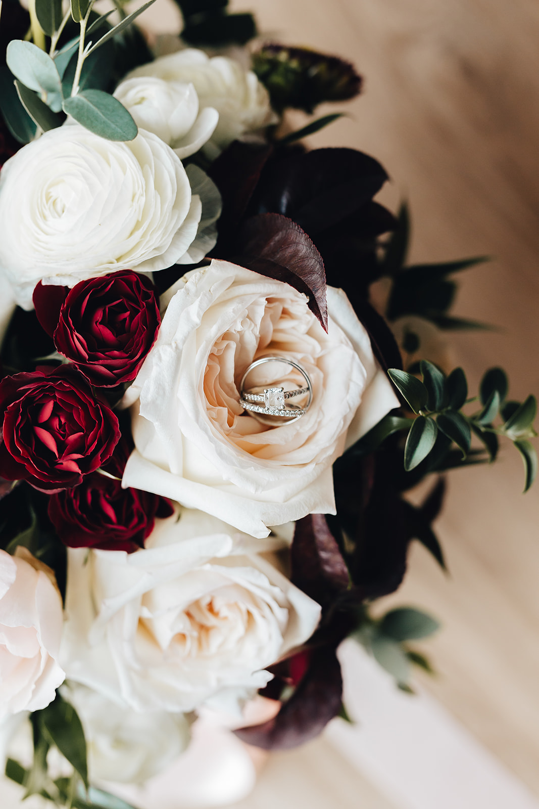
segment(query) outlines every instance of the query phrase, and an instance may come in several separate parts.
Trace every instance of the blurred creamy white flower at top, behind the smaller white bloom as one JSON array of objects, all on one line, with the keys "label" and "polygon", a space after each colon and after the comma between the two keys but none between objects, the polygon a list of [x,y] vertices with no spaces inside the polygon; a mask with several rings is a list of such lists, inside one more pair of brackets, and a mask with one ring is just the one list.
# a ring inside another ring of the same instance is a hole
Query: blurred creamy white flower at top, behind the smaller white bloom
[{"label": "blurred creamy white flower at top, behind the smaller white bloom", "polygon": [[155,76],[166,82],[191,83],[200,104],[219,113],[219,123],[204,152],[216,157],[236,138],[276,123],[266,88],[252,70],[244,70],[229,57],[208,57],[187,48],[132,70],[128,78]]}]

